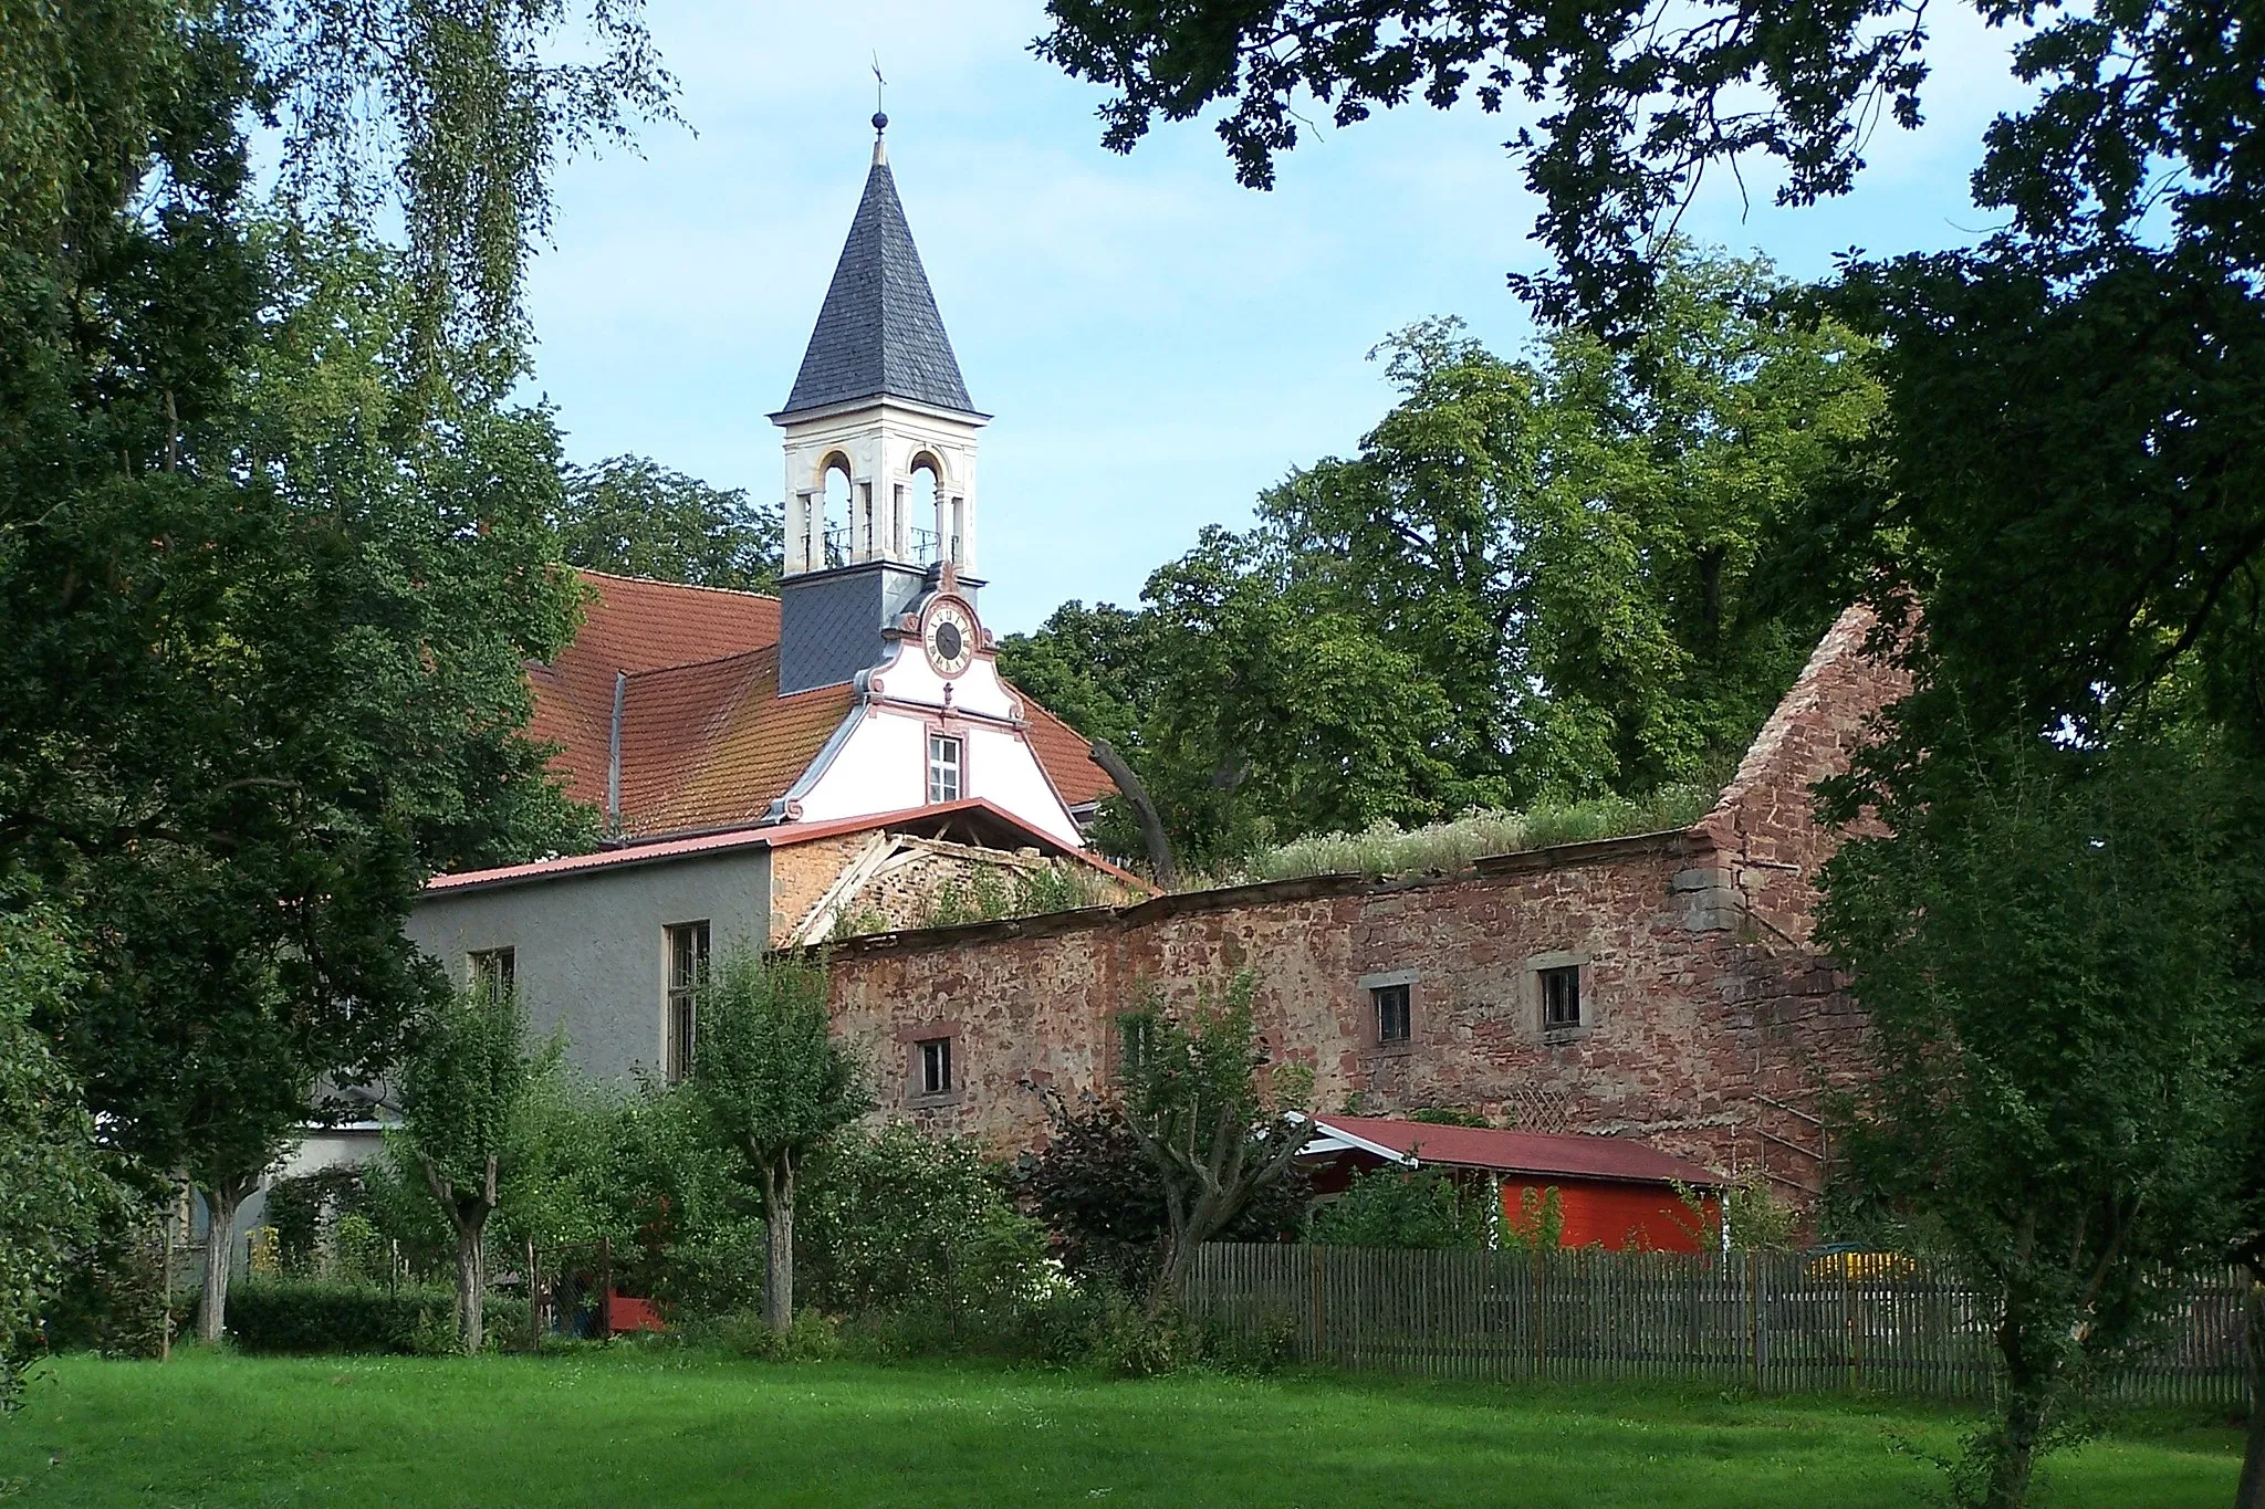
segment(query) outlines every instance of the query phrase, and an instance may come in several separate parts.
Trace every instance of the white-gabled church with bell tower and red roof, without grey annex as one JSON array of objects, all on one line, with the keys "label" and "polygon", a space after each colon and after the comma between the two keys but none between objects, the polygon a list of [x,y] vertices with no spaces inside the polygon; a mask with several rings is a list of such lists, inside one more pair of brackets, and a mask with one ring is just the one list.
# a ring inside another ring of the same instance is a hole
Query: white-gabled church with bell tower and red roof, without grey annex
[{"label": "white-gabled church with bell tower and red roof, without grey annex", "polygon": [[[877,115],[881,127],[886,118]],[[983,801],[1083,848],[1112,792],[999,679],[978,613],[974,407],[877,133],[786,405],[779,595],[582,572],[530,667],[539,740],[609,844]],[[829,507],[831,498],[831,507]]]}]

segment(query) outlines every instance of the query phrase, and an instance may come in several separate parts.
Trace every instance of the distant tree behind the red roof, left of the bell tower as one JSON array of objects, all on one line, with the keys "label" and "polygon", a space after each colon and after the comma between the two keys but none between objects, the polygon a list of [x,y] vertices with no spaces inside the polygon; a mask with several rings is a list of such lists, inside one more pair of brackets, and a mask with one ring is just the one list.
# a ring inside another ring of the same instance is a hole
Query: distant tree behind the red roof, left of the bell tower
[{"label": "distant tree behind the red roof, left of the bell tower", "polygon": [[571,466],[553,525],[573,566],[738,593],[777,588],[786,547],[779,505],[634,455]]}]

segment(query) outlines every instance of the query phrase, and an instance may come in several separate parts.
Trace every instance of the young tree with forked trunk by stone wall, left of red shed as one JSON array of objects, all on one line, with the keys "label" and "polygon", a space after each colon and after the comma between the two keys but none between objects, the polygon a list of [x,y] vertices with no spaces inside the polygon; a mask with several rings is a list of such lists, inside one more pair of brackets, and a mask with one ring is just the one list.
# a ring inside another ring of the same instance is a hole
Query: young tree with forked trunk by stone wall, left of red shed
[{"label": "young tree with forked trunk by stone wall, left of red shed", "polygon": [[1126,1014],[1126,1127],[1164,1197],[1164,1249],[1148,1287],[1148,1310],[1178,1303],[1196,1249],[1223,1233],[1268,1188],[1287,1179],[1314,1138],[1296,1115],[1314,1072],[1273,1063],[1250,1020],[1257,975],[1243,971],[1223,991],[1200,989],[1166,1004],[1151,989]]}]

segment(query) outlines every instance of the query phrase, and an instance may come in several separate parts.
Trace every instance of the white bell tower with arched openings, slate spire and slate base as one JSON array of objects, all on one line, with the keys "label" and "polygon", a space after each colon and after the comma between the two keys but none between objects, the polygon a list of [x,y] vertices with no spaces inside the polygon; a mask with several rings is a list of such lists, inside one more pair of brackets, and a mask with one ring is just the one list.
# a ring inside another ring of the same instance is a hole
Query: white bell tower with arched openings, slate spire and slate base
[{"label": "white bell tower with arched openings, slate spire and slate base", "polygon": [[[888,115],[818,310],[786,430],[779,695],[847,681],[956,566],[976,586],[976,412],[888,170]],[[831,498],[831,507],[829,507]]]}]

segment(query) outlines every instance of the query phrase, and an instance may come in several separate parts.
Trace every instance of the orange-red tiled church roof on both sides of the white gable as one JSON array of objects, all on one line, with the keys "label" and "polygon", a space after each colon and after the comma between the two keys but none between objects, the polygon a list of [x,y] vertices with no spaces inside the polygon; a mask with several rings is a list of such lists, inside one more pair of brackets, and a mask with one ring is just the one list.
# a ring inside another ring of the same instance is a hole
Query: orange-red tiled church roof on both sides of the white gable
[{"label": "orange-red tiled church roof on both sides of the white gable", "polygon": [[[566,792],[605,805],[614,672],[627,672],[621,717],[621,814],[627,835],[752,824],[809,769],[854,690],[779,697],[779,600],[598,570],[582,629],[548,665],[528,665],[537,740],[559,744]],[[1019,695],[1019,692],[1017,692]],[[1114,787],[1085,740],[1022,699],[1031,751],[1062,801]]]}]

